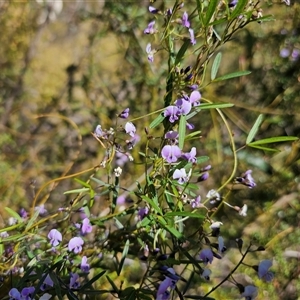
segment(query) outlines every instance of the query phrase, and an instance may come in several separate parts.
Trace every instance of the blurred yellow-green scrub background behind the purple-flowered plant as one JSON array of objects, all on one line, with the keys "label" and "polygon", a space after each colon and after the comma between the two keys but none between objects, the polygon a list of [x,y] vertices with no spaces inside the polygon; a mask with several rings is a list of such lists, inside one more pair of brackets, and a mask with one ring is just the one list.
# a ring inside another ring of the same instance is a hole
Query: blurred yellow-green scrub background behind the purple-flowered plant
[{"label": "blurred yellow-green scrub background behind the purple-flowered plant", "polygon": [[[166,3],[171,6],[173,1]],[[186,1],[187,9],[191,3]],[[152,65],[147,61],[149,40],[143,30],[151,20],[148,5],[148,1],[0,2],[1,227],[8,217],[5,206],[27,209],[44,183],[101,162],[104,149],[91,135],[96,125],[114,126],[116,114],[126,107],[131,117],[163,107],[167,65],[163,55]],[[300,136],[300,5],[292,2],[288,7],[278,0],[262,1],[262,6],[263,14],[273,14],[275,20],[252,23],[220,49],[220,75],[238,70],[250,70],[251,75],[201,90],[214,102],[235,105],[224,113],[237,148],[245,144],[260,113],[265,121],[257,139]],[[136,122],[141,135],[153,119]],[[205,196],[224,182],[232,156],[226,130],[214,111],[203,112],[195,125],[202,131],[197,151],[208,155],[213,166],[201,187]],[[142,136],[135,155],[143,150],[143,140]],[[277,147],[281,152],[275,154],[238,152],[239,172],[252,169],[257,187],[250,192],[236,190],[229,200],[232,205],[246,203],[248,216],[233,218],[234,212],[223,207],[216,217],[226,224],[224,235],[232,243],[236,237],[252,237],[268,245],[264,258],[276,257],[273,283],[256,283],[264,288],[262,299],[298,299],[300,144]],[[128,186],[143,169],[137,159],[124,170],[123,185]],[[101,178],[101,172],[98,175]],[[49,185],[43,191],[49,197],[46,207],[56,209],[70,201],[63,192],[75,187],[72,179]],[[233,251],[228,256],[234,263],[238,257]],[[224,260],[221,272],[231,264]],[[232,286],[226,289],[229,294]]]}]

